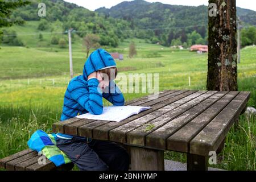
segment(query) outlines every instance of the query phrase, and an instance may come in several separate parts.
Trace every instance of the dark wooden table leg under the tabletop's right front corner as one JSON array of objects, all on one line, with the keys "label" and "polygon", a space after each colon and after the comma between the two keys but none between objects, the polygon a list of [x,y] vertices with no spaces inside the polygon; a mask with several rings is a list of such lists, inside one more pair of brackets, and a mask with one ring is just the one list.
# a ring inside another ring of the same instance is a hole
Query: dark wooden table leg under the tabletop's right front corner
[{"label": "dark wooden table leg under the tabletop's right front corner", "polygon": [[188,171],[208,171],[208,161],[206,156],[187,154]]}]

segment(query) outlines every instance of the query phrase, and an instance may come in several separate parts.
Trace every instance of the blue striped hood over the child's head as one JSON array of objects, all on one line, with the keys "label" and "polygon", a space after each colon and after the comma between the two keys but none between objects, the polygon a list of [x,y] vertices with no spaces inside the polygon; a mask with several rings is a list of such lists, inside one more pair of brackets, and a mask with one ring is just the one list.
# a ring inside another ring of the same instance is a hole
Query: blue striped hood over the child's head
[{"label": "blue striped hood over the child's head", "polygon": [[90,73],[111,67],[116,67],[116,64],[110,53],[101,48],[97,49],[93,51],[85,61],[82,77],[87,80]]}]

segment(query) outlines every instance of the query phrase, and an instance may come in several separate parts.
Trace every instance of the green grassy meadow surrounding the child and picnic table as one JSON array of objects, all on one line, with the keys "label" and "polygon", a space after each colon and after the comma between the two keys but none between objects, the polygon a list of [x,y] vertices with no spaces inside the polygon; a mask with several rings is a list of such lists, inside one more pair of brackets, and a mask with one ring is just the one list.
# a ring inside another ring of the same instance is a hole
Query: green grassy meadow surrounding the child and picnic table
[{"label": "green grassy meadow surrounding the child and picnic table", "polygon": [[[47,39],[47,36],[44,38]],[[52,123],[59,121],[64,92],[69,82],[67,48],[47,46],[47,43],[38,47],[37,43],[33,43],[33,38],[27,41],[27,47],[2,46],[0,49],[0,158],[27,148],[26,142],[35,130],[51,132]],[[104,47],[109,52],[123,53],[124,60],[117,61],[119,72],[159,73],[159,90],[206,90],[207,54],[199,55],[134,39],[138,54],[130,59],[130,41],[125,40],[118,48]],[[73,46],[75,75],[81,75],[86,60],[81,45],[81,40],[77,38]],[[158,52],[156,57],[150,57],[154,52]],[[191,86],[188,85],[189,76]],[[241,63],[238,64],[238,90],[251,92],[248,105],[254,107],[255,77],[256,47],[243,48]],[[126,101],[144,95],[124,94]],[[239,125],[232,127],[226,138],[217,166],[212,167],[255,170],[255,135],[255,118],[241,115]],[[180,162],[186,160],[184,154],[176,152],[166,152],[165,158]]]}]

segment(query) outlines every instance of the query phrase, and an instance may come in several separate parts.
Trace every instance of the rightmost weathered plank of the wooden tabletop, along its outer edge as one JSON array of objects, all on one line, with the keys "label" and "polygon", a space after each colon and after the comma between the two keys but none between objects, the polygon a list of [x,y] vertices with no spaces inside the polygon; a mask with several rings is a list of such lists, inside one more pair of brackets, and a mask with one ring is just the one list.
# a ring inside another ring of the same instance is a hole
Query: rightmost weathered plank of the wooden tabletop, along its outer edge
[{"label": "rightmost weathered plank of the wooden tabletop, along its outer edge", "polygon": [[190,142],[191,154],[206,156],[216,151],[228,134],[232,123],[246,106],[250,92],[240,92],[199,134]]}]

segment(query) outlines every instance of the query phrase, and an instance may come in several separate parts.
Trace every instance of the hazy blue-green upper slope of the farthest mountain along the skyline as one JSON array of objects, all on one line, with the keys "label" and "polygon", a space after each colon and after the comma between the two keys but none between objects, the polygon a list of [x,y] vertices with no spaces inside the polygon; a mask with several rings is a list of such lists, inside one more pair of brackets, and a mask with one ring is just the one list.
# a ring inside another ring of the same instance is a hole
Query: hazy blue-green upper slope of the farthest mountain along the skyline
[{"label": "hazy blue-green upper slope of the farthest mountain along the skyline", "polygon": [[[143,0],[124,1],[110,9],[101,7],[96,10],[113,18],[133,20],[136,26],[192,26],[208,22],[208,7],[166,5],[160,2],[146,2]],[[237,16],[251,25],[256,25],[256,11],[237,7]]]}]

